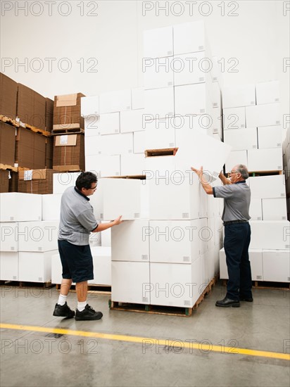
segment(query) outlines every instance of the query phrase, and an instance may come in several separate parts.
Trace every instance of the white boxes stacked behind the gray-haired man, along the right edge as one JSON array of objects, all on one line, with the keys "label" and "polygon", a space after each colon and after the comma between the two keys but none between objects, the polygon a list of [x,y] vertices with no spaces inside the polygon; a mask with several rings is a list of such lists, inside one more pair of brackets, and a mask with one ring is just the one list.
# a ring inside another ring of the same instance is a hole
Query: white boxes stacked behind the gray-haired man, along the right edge
[{"label": "white boxes stacked behind the gray-haired man, along the right edge", "polygon": [[[231,170],[241,163],[248,166],[249,172],[263,172],[263,176],[247,180],[251,188],[252,279],[289,282],[290,224],[285,175],[271,174],[281,174],[283,169],[279,82],[226,88],[222,104],[224,141],[233,147],[226,169]],[[289,153],[287,159],[286,142],[284,144],[284,165],[287,165]],[[227,279],[224,249],[220,251],[220,278]]]}]

